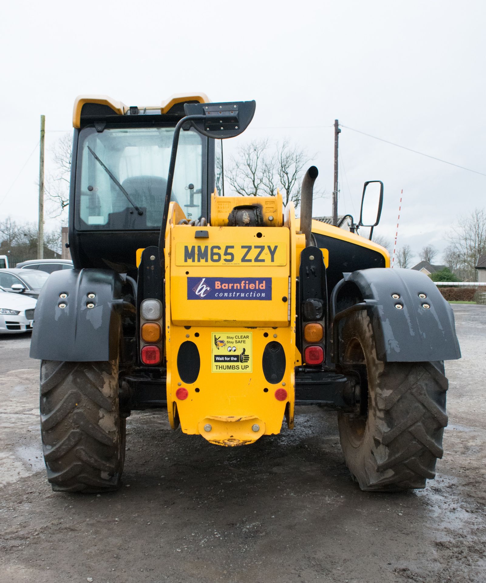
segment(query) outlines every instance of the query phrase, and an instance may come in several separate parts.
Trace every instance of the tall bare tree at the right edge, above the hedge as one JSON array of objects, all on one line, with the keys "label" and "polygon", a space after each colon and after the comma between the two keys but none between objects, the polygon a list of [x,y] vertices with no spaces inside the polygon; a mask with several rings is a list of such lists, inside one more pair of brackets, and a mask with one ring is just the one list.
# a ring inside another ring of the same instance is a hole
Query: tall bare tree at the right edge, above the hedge
[{"label": "tall bare tree at the right edge, above the hedge", "polygon": [[485,209],[476,208],[469,215],[459,217],[447,238],[459,256],[459,276],[464,281],[476,281],[477,259],[486,253]]}]

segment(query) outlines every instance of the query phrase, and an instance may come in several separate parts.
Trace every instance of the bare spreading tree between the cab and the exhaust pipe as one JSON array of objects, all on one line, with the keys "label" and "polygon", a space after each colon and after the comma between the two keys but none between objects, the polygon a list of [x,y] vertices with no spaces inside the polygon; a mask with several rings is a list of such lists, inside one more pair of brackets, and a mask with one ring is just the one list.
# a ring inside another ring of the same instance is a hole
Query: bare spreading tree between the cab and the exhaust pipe
[{"label": "bare spreading tree between the cab and the exhaust pipe", "polygon": [[275,196],[278,189],[284,204],[293,201],[298,206],[302,170],[308,161],[307,151],[288,140],[274,147],[269,140],[254,140],[240,147],[225,177],[236,194]]}]

